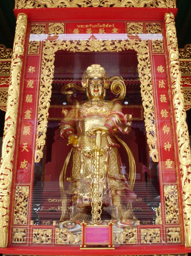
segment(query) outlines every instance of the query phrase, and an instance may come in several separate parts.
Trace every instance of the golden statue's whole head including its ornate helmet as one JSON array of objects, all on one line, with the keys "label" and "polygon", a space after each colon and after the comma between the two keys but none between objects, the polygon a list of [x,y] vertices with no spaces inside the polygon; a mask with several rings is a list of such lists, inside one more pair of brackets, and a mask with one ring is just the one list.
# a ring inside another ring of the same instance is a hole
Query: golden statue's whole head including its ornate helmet
[{"label": "golden statue's whole head including its ornate helmet", "polygon": [[82,76],[82,87],[86,88],[88,99],[104,99],[109,83],[108,73],[98,64],[88,67]]}]

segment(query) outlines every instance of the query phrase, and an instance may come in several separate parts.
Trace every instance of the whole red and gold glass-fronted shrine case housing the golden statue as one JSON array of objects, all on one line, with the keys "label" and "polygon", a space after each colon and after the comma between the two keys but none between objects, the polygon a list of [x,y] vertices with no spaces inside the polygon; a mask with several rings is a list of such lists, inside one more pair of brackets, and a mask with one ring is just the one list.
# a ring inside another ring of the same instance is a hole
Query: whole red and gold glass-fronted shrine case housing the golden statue
[{"label": "whole red and gold glass-fronted shrine case housing the golden statue", "polygon": [[144,7],[138,18],[140,8],[128,8],[127,18],[119,8],[121,17],[107,18],[112,8],[102,8],[102,18],[84,21],[74,11],[70,21],[62,8],[57,18],[34,8],[22,9],[28,21],[15,10],[9,90],[17,75],[20,92],[10,92],[6,114],[15,145],[5,134],[14,161],[3,167],[2,157],[1,198],[10,200],[10,211],[0,208],[3,254],[188,252],[190,148],[176,9]]}]

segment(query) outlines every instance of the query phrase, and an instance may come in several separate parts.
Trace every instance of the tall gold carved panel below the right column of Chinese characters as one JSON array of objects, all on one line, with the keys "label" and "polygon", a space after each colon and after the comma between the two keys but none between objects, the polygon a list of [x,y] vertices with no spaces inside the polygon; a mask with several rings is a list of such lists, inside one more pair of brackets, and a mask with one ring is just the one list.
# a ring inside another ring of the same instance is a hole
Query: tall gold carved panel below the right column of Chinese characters
[{"label": "tall gold carved panel below the right column of Chinese characters", "polygon": [[179,224],[177,186],[164,186],[165,222]]}]

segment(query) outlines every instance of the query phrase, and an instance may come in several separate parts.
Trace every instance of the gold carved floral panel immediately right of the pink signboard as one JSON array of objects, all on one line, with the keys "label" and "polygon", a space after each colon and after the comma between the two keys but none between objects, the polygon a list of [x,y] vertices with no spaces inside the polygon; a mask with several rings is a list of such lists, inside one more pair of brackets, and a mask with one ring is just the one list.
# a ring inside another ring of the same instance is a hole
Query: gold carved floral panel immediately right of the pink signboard
[{"label": "gold carved floral panel immediately right of the pink signboard", "polygon": [[113,233],[113,244],[137,244],[137,228],[125,228],[121,233]]}]

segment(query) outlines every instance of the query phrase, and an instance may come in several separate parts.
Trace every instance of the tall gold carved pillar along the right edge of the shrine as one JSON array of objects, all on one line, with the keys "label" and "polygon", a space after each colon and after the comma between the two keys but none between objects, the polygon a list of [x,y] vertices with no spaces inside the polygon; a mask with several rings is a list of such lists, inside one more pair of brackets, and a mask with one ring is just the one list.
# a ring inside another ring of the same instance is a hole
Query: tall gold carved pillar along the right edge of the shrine
[{"label": "tall gold carved pillar along the right edge of the shrine", "polygon": [[178,42],[172,13],[165,14],[165,26],[170,61],[171,87],[173,94],[174,117],[178,139],[182,203],[184,207],[185,246],[191,246],[191,153],[184,96],[181,91],[181,72],[178,60]]}]

